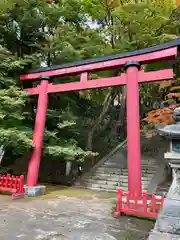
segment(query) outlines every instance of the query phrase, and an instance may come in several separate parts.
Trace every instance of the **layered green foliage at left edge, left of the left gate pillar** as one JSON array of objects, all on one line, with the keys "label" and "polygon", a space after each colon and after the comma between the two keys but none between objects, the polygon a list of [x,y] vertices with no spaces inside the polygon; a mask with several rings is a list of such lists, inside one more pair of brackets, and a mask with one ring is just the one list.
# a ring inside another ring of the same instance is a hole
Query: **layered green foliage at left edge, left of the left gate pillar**
[{"label": "layered green foliage at left edge, left of the left gate pillar", "polygon": [[23,61],[0,46],[0,144],[13,149],[15,154],[33,147],[32,130],[22,127],[27,113],[27,94],[16,86],[11,74],[23,66]]}]

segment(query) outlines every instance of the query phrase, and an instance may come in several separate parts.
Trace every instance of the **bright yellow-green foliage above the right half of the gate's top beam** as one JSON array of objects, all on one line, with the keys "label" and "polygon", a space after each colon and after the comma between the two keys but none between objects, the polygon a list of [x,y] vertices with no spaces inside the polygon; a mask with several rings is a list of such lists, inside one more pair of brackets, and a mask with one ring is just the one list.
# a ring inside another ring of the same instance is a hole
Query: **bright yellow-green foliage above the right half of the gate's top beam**
[{"label": "bright yellow-green foliage above the right half of the gate's top beam", "polygon": [[[91,19],[101,24],[103,36],[109,43],[113,42],[113,48],[118,51],[139,49],[174,37],[161,32],[175,7],[174,1],[83,2]],[[112,52],[112,48],[107,51]]]}]

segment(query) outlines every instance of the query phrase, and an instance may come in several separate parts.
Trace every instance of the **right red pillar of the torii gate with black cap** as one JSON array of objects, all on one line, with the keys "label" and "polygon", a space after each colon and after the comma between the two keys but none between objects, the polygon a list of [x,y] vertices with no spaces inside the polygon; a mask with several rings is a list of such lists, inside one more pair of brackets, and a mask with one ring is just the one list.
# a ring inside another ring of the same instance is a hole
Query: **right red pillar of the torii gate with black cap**
[{"label": "right red pillar of the torii gate with black cap", "polygon": [[133,195],[140,195],[142,191],[138,79],[140,64],[136,61],[129,61],[124,67],[127,76],[126,111],[128,191]]}]

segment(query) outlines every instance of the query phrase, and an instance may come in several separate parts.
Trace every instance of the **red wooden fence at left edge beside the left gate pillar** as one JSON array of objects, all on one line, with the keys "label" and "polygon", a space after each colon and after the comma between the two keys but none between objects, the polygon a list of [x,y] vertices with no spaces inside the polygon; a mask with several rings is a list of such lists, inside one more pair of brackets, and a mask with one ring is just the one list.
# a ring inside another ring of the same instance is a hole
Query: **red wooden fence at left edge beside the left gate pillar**
[{"label": "red wooden fence at left edge beside the left gate pillar", "polygon": [[23,197],[24,176],[0,175],[0,191],[12,193],[12,199]]}]

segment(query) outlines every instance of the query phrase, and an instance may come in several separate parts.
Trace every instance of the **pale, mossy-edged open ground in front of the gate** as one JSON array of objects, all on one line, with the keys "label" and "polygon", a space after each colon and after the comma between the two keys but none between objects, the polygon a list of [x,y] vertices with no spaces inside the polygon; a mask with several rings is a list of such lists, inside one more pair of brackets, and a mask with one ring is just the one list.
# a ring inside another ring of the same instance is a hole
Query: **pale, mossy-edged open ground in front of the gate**
[{"label": "pale, mossy-edged open ground in front of the gate", "polygon": [[12,201],[0,195],[1,240],[142,240],[153,223],[112,216],[115,196],[48,188],[40,198]]}]

